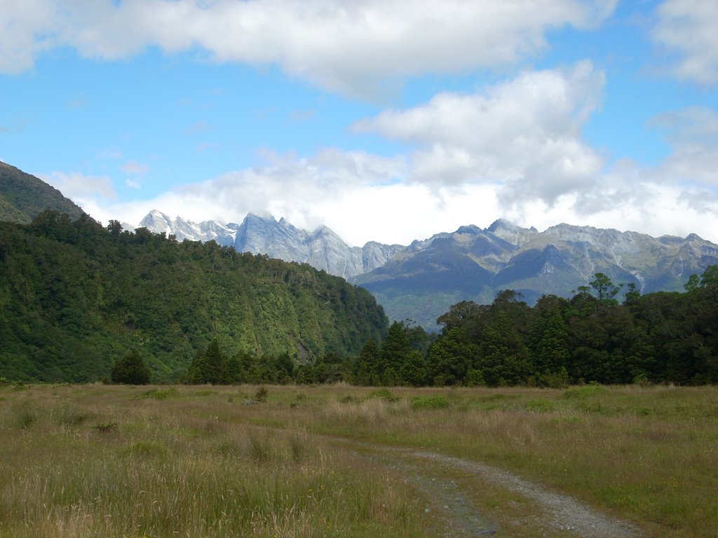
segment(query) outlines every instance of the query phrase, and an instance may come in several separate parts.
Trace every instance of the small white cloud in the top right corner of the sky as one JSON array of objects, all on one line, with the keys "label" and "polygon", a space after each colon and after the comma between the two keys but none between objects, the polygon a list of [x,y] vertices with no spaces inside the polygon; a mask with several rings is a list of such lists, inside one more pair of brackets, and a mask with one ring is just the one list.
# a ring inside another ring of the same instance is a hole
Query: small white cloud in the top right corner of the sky
[{"label": "small white cloud in the top right corner of the sky", "polygon": [[677,56],[673,75],[701,84],[718,82],[718,3],[667,0],[656,16],[653,40]]}]

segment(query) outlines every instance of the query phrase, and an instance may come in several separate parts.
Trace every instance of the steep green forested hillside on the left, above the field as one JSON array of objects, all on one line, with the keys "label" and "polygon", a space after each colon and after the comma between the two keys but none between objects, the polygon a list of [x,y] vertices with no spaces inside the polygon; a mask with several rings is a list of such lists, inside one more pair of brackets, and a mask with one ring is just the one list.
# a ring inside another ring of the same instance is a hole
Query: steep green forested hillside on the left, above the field
[{"label": "steep green forested hillside on the left, above the field", "polygon": [[218,341],[228,355],[296,363],[358,354],[381,340],[373,296],[309,265],[118,222],[42,212],[0,222],[0,377],[83,382],[109,377],[137,350],[154,381],[174,381]]}]

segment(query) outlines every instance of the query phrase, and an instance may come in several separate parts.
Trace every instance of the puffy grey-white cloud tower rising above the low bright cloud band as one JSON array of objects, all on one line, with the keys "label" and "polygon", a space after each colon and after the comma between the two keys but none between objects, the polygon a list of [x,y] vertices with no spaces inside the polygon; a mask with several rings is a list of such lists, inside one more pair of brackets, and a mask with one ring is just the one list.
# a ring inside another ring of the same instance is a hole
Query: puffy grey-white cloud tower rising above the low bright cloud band
[{"label": "puffy grey-white cloud tower rising above the low bright cloud band", "polygon": [[581,139],[600,106],[605,75],[590,62],[524,72],[474,94],[441,93],[426,105],[386,110],[355,124],[414,143],[411,178],[444,186],[496,183],[505,203],[590,189],[604,166]]}]

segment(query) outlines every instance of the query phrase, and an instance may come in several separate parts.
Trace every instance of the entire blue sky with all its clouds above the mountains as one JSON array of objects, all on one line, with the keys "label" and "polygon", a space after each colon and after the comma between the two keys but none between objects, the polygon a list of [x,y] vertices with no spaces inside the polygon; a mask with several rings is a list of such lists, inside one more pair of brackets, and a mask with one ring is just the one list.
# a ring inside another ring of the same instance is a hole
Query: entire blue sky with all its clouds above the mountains
[{"label": "entire blue sky with all its clouds above the mountains", "polygon": [[718,242],[716,0],[0,0],[0,161],[103,223]]}]

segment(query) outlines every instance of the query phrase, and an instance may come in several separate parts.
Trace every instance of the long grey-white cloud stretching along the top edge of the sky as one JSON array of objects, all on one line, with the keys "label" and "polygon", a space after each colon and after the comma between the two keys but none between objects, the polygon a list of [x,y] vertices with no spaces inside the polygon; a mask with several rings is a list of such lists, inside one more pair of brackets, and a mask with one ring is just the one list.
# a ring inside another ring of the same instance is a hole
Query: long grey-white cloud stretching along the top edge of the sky
[{"label": "long grey-white cloud stretching along the top edge of the sky", "polygon": [[[600,24],[617,0],[0,0],[0,71],[45,49],[118,59],[151,45],[218,62],[277,64],[350,95],[402,77],[503,65],[546,49],[550,29]],[[350,59],[350,61],[348,60]]]}]

